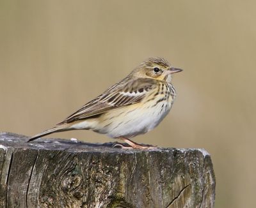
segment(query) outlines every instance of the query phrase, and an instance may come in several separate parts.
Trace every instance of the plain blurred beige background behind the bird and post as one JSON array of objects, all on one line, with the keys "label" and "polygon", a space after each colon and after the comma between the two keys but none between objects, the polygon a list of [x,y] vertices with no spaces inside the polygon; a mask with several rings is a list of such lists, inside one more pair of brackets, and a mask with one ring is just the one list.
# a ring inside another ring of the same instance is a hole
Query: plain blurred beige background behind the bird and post
[{"label": "plain blurred beige background behind the bird and post", "polygon": [[[150,56],[183,68],[158,128],[135,139],[205,148],[216,207],[256,207],[256,1],[0,0],[0,130],[52,127]],[[91,131],[51,137],[112,141]]]}]

